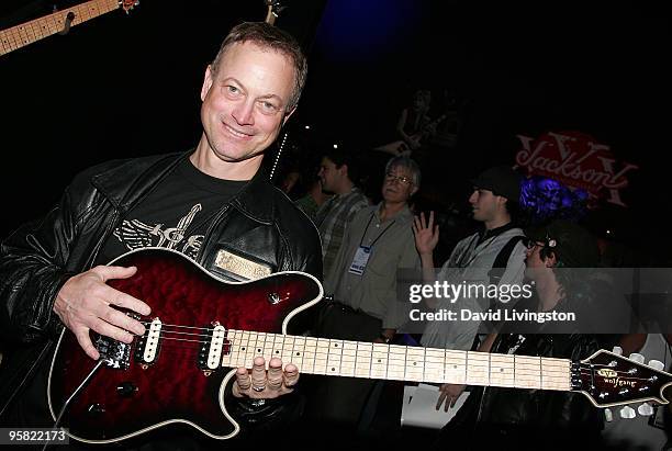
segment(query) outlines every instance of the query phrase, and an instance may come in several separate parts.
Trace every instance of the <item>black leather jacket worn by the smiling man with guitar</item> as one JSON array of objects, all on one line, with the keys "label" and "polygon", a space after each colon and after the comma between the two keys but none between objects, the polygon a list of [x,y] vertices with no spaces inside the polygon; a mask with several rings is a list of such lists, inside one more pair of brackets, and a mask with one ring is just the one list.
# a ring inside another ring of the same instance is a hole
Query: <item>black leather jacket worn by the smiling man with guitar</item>
[{"label": "black leather jacket worn by the smiling man with guitar", "polygon": [[[63,324],[53,312],[56,294],[71,275],[93,266],[97,255],[125,212],[168,174],[187,154],[169,154],[98,165],[79,173],[59,203],[41,221],[26,224],[0,249],[0,320],[3,362],[0,367],[0,414],[51,353]],[[259,171],[209,227],[198,261],[214,267],[226,248],[270,266],[273,271],[304,271],[322,279],[318,233],[307,217]],[[290,396],[287,397],[288,402]],[[285,403],[242,403],[250,415],[275,413]],[[272,408],[270,408],[272,407]],[[236,414],[233,411],[234,415]],[[272,421],[271,421],[272,422]]]}]

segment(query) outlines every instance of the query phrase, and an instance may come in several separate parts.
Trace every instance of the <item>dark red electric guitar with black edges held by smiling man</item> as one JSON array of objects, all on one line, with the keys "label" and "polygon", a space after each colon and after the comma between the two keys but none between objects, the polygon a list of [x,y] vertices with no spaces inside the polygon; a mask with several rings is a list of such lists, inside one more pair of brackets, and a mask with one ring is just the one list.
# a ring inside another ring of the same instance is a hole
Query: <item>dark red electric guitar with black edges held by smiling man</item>
[{"label": "dark red electric guitar with black edges held by smiling man", "polygon": [[324,294],[310,274],[229,283],[164,248],[137,249],[112,263],[137,267],[132,278],[108,283],[152,306],[152,317],[134,315],[146,334],[130,345],[94,336],[96,362],[64,330],[48,377],[54,419],[88,443],[172,424],[213,439],[234,437],[239,426],[226,409],[225,387],[257,356],[309,374],[578,392],[597,407],[667,404],[662,390],[672,385],[671,374],[604,350],[571,361],[291,336],[292,317]]}]

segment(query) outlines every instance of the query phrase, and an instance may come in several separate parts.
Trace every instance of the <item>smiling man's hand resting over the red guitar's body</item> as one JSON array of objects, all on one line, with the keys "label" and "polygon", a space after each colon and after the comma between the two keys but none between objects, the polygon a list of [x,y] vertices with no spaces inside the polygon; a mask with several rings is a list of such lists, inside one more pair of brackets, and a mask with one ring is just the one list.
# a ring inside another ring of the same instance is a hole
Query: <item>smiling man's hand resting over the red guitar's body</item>
[{"label": "smiling man's hand resting over the red guitar's body", "polygon": [[145,316],[152,312],[149,306],[105,284],[111,279],[127,279],[135,271],[135,267],[100,266],[71,277],[60,287],[54,302],[54,312],[75,334],[79,346],[91,359],[98,360],[100,353],[91,342],[89,330],[125,343],[133,341],[132,334],[145,334],[145,327],[139,322],[112,305]]}]

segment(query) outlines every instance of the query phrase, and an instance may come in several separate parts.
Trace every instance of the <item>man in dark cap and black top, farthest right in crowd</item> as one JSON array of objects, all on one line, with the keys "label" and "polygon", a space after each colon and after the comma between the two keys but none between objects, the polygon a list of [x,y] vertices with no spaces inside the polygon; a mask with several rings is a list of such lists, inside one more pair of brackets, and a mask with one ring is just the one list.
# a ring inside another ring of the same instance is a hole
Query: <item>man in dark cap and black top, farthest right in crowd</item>
[{"label": "man in dark cap and black top, farthest right in crowd", "polygon": [[[523,312],[575,313],[587,319],[594,295],[590,268],[598,262],[597,243],[584,228],[565,219],[526,230],[526,277],[534,296],[520,301]],[[579,268],[579,270],[576,270]],[[581,328],[583,327],[583,330]],[[600,349],[600,338],[580,323],[512,323],[494,335],[492,352],[581,360]],[[587,326],[590,327],[590,326]],[[580,393],[485,387],[472,391],[462,408],[441,430],[434,449],[467,440],[467,449],[570,449],[600,447],[602,411]]]}]

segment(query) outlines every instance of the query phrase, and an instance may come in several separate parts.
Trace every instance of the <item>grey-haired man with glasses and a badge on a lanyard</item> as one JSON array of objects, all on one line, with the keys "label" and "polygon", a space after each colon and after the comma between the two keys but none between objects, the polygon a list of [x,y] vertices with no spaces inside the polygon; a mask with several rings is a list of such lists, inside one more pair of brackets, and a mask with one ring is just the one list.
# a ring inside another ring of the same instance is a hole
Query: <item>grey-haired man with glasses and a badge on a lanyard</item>
[{"label": "grey-haired man with glasses and a badge on a lanyard", "polygon": [[[318,335],[327,338],[390,342],[406,317],[396,296],[397,269],[419,269],[413,241],[408,200],[421,183],[418,166],[394,157],[385,167],[382,202],[362,208],[346,228],[336,261],[325,277],[326,306]],[[317,403],[315,418],[343,427],[360,419],[372,380],[329,377],[310,398]]]}]

